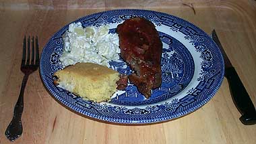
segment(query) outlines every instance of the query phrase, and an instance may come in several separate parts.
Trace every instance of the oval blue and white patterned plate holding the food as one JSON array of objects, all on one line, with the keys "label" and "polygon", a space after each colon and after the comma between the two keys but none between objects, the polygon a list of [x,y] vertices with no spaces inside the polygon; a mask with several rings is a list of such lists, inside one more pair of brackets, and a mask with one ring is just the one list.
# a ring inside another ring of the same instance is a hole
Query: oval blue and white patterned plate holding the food
[{"label": "oval blue and white patterned plate holding the food", "polygon": [[[145,17],[156,25],[163,43],[162,85],[152,90],[149,99],[129,84],[116,92],[110,102],[95,103],[75,96],[53,84],[53,73],[62,68],[61,35],[65,25],[44,47],[40,74],[46,88],[70,109],[103,121],[114,123],[155,123],[187,115],[203,106],[216,94],[224,76],[224,60],[219,48],[201,29],[179,17],[157,11],[121,9],[82,17],[84,27],[109,25],[115,33],[117,25],[131,17]],[[73,23],[72,22],[72,23]],[[129,66],[120,60],[109,62],[110,68],[130,74]]]}]

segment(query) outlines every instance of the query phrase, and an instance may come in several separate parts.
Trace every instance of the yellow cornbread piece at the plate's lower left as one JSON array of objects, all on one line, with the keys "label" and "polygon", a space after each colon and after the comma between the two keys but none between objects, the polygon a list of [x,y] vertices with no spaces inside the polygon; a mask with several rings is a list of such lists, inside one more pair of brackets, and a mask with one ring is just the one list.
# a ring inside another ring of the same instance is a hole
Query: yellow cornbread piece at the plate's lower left
[{"label": "yellow cornbread piece at the plate's lower left", "polygon": [[82,98],[95,102],[110,100],[117,90],[119,73],[106,66],[77,63],[55,72],[55,84]]}]

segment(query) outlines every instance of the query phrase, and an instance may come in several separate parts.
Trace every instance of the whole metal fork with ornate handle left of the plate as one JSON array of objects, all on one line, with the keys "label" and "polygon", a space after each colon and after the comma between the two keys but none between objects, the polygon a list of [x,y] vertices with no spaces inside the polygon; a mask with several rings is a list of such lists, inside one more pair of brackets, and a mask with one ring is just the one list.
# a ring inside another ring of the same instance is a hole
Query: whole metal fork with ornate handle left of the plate
[{"label": "whole metal fork with ornate handle left of the plate", "polygon": [[[26,35],[23,40],[23,54],[22,54],[22,64],[20,66],[20,70],[24,73],[24,78],[22,80],[22,87],[20,88],[20,95],[18,101],[15,104],[15,108],[13,110],[13,118],[11,119],[11,123],[9,123],[5,136],[10,141],[14,141],[20,135],[22,135],[22,112],[24,107],[24,90],[26,87],[26,83],[28,81],[28,76],[32,74],[32,72],[36,71],[39,66],[39,53],[38,53],[38,38],[36,36],[36,42],[34,42],[34,36],[32,37],[32,49],[30,50],[30,36],[28,36],[28,46],[26,46]],[[30,54],[31,51],[31,54]],[[31,57],[31,58],[30,58]]]}]

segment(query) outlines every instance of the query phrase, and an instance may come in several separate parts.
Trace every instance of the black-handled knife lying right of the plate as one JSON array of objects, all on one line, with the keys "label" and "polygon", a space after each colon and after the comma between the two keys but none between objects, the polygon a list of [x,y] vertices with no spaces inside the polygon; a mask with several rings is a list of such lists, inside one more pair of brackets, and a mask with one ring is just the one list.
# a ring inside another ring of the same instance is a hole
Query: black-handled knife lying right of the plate
[{"label": "black-handled knife lying right of the plate", "polygon": [[253,102],[251,101],[251,98],[247,93],[245,86],[241,82],[238,74],[236,73],[235,68],[232,66],[230,60],[228,59],[226,52],[222,48],[222,45],[220,44],[220,40],[218,39],[215,29],[212,31],[212,39],[214,40],[214,42],[217,44],[217,46],[220,48],[220,51],[222,52],[224,63],[225,63],[224,76],[228,80],[228,84],[230,87],[230,94],[232,96],[234,105],[242,115],[240,117],[240,121],[244,125],[255,125],[256,124],[255,106],[253,105]]}]

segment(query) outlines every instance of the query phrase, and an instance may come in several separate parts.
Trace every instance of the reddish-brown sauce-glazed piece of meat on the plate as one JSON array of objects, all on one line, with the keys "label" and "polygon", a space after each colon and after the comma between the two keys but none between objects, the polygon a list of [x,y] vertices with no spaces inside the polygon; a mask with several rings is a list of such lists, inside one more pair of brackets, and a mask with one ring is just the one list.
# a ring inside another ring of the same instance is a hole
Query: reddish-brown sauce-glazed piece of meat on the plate
[{"label": "reddish-brown sauce-glazed piece of meat on the plate", "polygon": [[162,83],[162,42],[154,24],[143,17],[127,19],[117,26],[121,57],[133,73],[129,81],[146,98]]}]

